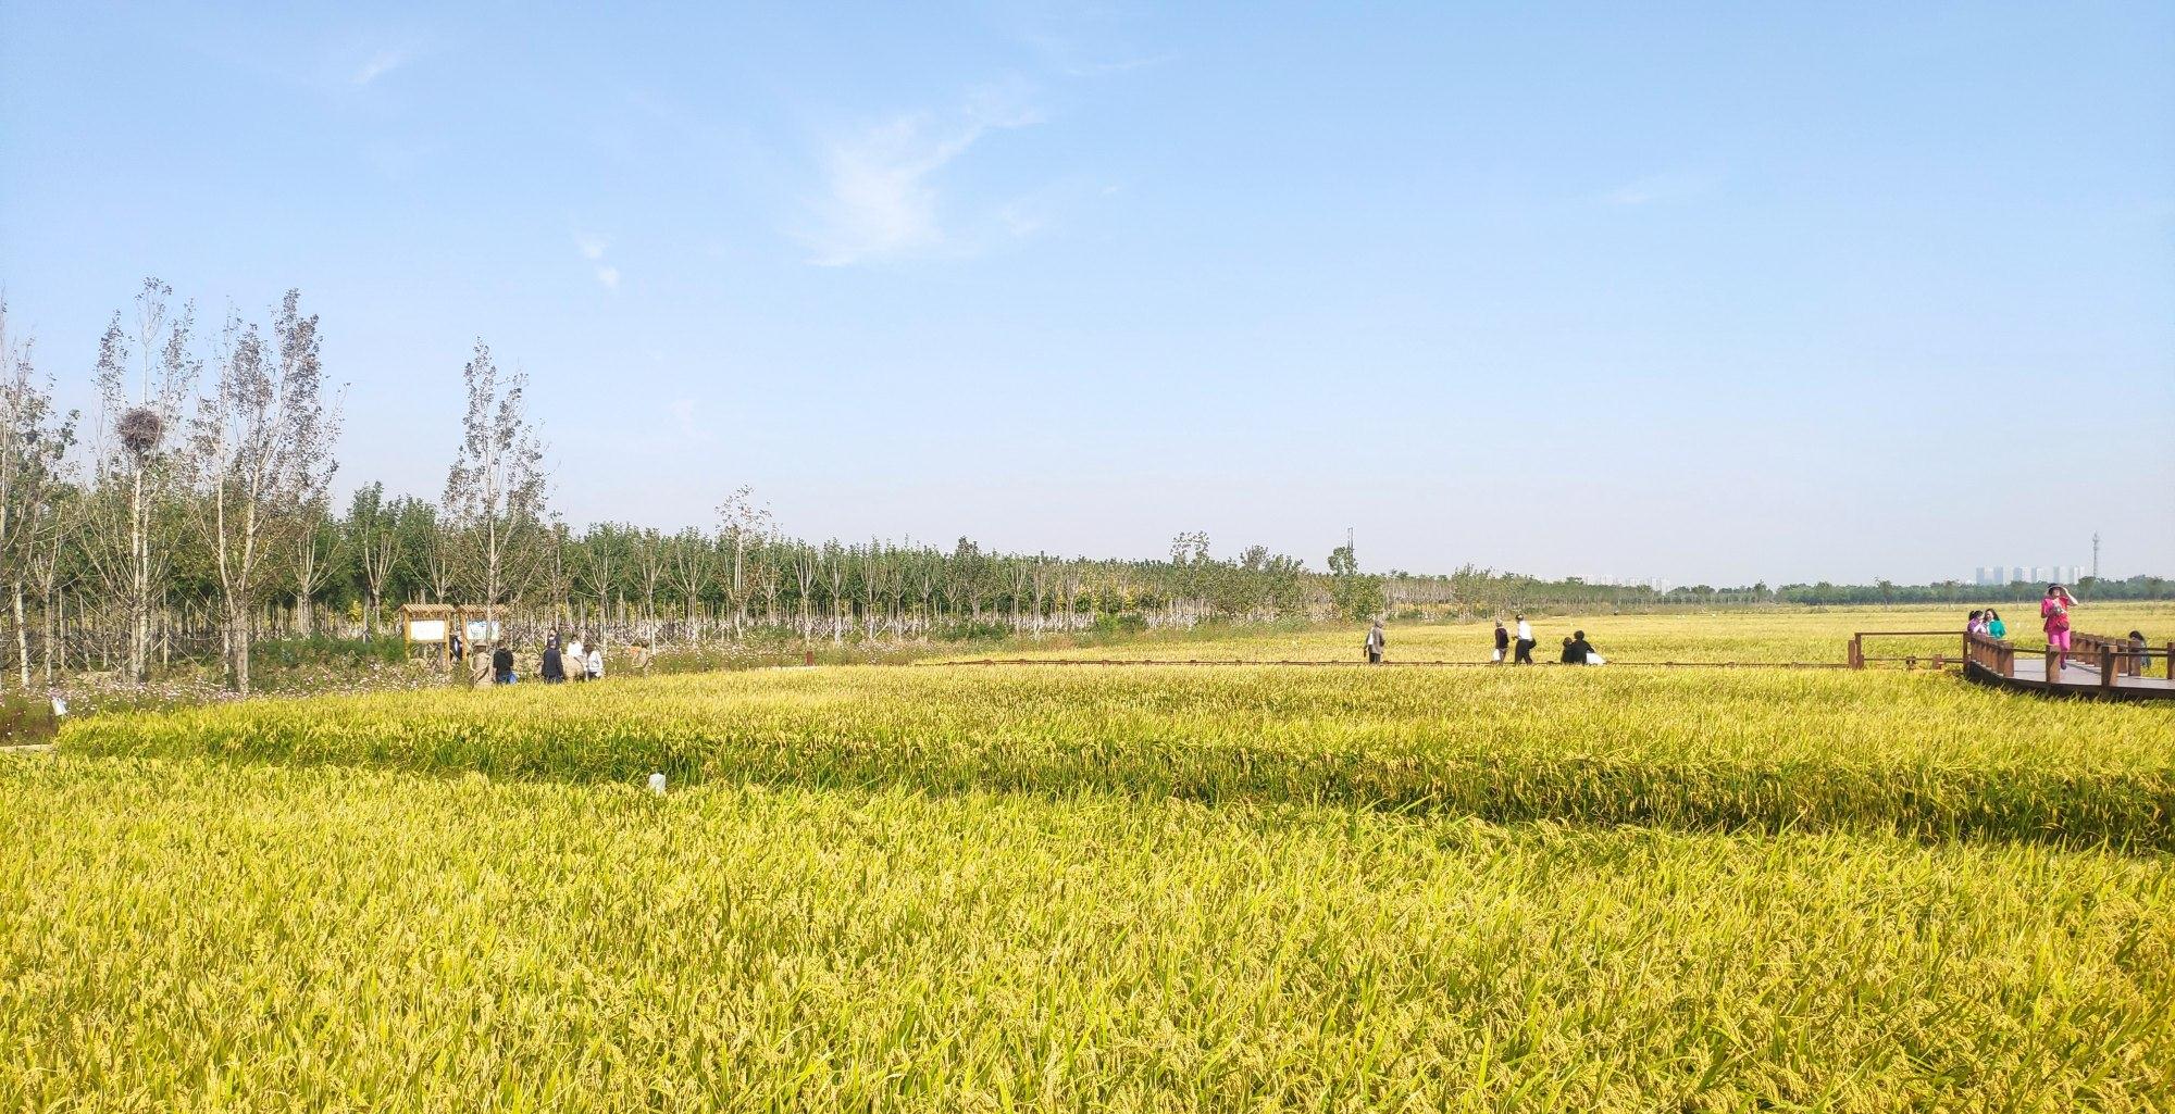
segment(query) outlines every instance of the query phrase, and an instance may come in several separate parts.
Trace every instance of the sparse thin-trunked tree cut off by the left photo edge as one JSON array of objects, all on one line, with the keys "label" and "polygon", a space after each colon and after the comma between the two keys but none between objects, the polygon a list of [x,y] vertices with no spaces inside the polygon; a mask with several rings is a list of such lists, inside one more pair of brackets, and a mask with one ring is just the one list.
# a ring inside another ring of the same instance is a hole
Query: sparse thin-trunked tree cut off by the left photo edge
[{"label": "sparse thin-trunked tree cut off by the left photo edge", "polygon": [[74,437],[76,413],[54,411],[52,379],[33,370],[30,339],[9,331],[7,300],[0,298],[0,577],[15,616],[22,688],[30,688],[24,585],[41,579],[46,542],[61,537],[61,492]]}]

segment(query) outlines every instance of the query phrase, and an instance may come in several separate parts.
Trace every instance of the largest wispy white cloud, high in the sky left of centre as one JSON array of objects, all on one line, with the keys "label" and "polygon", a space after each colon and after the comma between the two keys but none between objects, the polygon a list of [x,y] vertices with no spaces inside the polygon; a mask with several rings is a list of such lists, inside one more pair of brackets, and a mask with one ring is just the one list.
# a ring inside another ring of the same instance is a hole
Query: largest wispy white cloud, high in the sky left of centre
[{"label": "largest wispy white cloud, high in the sky left of centre", "polygon": [[957,122],[903,113],[829,141],[822,154],[824,187],[813,202],[820,226],[809,235],[809,261],[844,268],[957,248],[942,222],[937,174],[983,137],[1040,122],[1042,115],[1016,94],[985,89],[970,98]]}]

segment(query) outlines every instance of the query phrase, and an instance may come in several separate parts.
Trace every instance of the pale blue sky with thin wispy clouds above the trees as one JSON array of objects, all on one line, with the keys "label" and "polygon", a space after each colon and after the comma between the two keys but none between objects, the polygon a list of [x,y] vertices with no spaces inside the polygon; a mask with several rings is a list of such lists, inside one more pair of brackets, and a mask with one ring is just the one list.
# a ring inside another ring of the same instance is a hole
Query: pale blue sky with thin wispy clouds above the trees
[{"label": "pale blue sky with thin wispy clouds above the trees", "polygon": [[418,494],[481,335],[576,522],[2164,574],[2168,59],[2166,4],[4,0],[0,283],[76,403],[141,276],[300,287],[344,479]]}]

